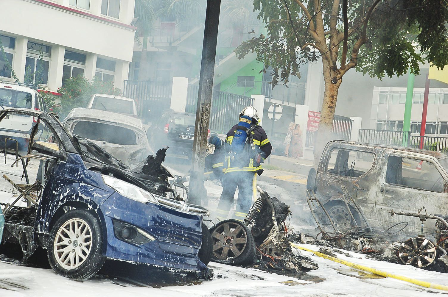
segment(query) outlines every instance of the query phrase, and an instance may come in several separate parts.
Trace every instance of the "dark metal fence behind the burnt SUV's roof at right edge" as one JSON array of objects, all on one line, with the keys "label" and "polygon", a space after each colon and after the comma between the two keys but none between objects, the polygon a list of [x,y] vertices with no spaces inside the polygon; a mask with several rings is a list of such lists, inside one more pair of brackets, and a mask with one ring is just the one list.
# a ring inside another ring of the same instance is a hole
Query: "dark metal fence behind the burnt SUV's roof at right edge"
[{"label": "dark metal fence behind the burnt SUV's roof at right edge", "polygon": [[394,130],[359,129],[359,142],[393,146],[407,146],[435,152],[448,153],[448,137],[411,135],[410,132]]}]

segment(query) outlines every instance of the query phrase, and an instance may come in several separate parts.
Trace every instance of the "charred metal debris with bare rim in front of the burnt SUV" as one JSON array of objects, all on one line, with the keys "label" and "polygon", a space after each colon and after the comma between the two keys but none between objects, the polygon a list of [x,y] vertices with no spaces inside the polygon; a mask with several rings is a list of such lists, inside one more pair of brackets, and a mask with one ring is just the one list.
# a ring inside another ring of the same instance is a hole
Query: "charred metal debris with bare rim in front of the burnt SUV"
[{"label": "charred metal debris with bare rim in front of the burnt SUV", "polygon": [[[368,224],[356,200],[349,195],[344,186],[342,186],[342,192],[346,209],[352,211],[334,215],[334,213],[330,214],[316,198],[314,191],[308,190],[308,206],[318,225],[316,229],[319,233],[315,237],[301,233],[292,241],[336,248],[332,250],[339,253],[343,252],[337,250],[338,248],[356,251],[383,261],[448,272],[448,215],[428,214],[425,207],[415,213],[391,209],[389,211],[391,216],[417,217],[421,222],[421,234],[405,239],[406,234],[409,234],[404,232],[409,225],[408,221],[393,224],[384,231],[374,230]],[[354,218],[355,215],[357,220]],[[341,217],[347,216],[352,216],[353,224],[349,226],[340,224]],[[358,223],[360,221],[358,218],[362,218],[362,223]],[[433,239],[423,233],[423,226],[428,220],[435,221],[436,235]],[[326,254],[331,252],[325,248],[321,248],[320,251]],[[349,256],[349,254],[346,255]]]}]

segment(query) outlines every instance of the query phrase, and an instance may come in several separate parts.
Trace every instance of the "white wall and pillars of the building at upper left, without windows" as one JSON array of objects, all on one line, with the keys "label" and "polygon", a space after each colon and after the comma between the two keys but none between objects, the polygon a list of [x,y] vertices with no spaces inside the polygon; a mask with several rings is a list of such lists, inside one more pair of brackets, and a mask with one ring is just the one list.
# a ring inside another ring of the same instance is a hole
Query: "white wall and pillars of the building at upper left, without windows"
[{"label": "white wall and pillars of the building at upper left, without windows", "polygon": [[35,41],[52,47],[49,89],[56,91],[62,84],[66,49],[86,54],[84,76],[89,80],[95,76],[97,56],[115,60],[114,85],[123,89],[134,51],[135,30],[129,25],[134,0],[121,0],[120,19],[101,15],[101,0],[90,0],[90,10],[70,6],[69,0],[1,3],[0,34],[16,38],[12,66],[20,81],[25,76],[27,42]]}]

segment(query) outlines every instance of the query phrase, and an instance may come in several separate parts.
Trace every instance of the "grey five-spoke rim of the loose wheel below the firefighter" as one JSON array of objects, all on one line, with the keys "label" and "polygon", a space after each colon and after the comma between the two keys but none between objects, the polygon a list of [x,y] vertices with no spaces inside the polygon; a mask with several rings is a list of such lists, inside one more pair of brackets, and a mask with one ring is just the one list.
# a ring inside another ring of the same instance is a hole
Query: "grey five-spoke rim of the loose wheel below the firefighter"
[{"label": "grey five-spoke rim of the loose wheel below the firefighter", "polygon": [[246,248],[246,230],[237,222],[225,222],[217,225],[211,233],[213,255],[220,260],[233,260]]}]

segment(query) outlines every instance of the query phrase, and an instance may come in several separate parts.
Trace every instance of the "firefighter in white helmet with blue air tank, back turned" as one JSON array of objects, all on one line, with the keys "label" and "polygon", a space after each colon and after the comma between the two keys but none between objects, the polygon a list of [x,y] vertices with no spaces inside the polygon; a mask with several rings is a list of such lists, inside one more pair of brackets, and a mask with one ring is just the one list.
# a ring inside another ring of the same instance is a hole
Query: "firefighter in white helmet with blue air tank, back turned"
[{"label": "firefighter in white helmet with blue air tank, back turned", "polygon": [[[223,191],[217,209],[217,216],[221,221],[228,216],[237,187],[238,199],[234,215],[237,220],[242,221],[246,217],[252,197],[256,196],[256,176],[263,173],[261,163],[269,157],[272,150],[266,132],[258,122],[257,110],[254,106],[246,106],[241,110],[240,122],[227,132]],[[237,140],[242,143],[241,136],[245,135],[246,140],[241,148],[236,148]]]}]

